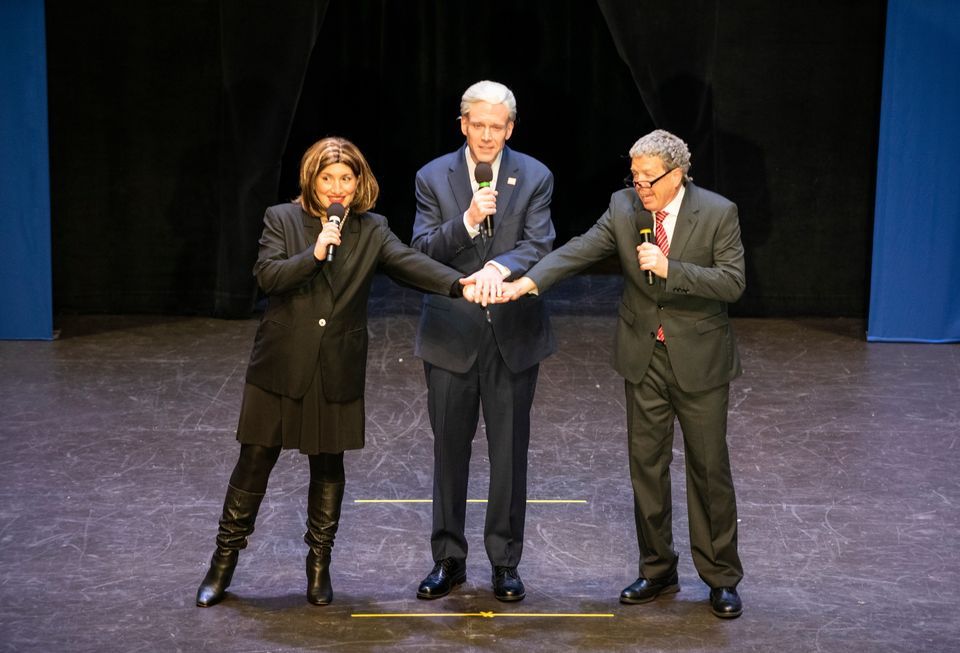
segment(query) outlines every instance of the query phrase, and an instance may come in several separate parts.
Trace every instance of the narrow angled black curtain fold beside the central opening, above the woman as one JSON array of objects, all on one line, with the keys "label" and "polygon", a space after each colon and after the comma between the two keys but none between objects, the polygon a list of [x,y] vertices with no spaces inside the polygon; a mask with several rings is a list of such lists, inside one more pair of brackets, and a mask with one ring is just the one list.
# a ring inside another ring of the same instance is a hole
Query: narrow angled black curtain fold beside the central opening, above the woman
[{"label": "narrow angled black curtain fold beside the central opening, above the woman", "polygon": [[250,314],[264,209],[276,202],[304,77],[329,0],[220,3],[222,114],[213,314]]}]

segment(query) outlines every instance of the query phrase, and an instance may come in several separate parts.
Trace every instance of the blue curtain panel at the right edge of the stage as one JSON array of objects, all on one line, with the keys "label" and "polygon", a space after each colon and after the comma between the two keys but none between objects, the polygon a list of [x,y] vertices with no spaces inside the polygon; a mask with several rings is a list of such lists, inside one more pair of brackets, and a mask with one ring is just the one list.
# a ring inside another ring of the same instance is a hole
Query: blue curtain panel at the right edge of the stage
[{"label": "blue curtain panel at the right edge of the stage", "polygon": [[867,339],[960,342],[957,0],[887,5]]}]

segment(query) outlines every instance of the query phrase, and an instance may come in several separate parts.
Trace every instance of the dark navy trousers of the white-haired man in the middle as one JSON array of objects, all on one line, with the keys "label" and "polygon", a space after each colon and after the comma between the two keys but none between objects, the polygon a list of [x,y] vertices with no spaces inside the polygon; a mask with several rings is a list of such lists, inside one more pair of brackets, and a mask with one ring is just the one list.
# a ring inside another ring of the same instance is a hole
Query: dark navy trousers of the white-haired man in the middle
[{"label": "dark navy trousers of the white-haired man in the middle", "polygon": [[465,374],[424,364],[433,427],[434,560],[466,560],[467,482],[479,410],[487,431],[490,489],[483,541],[490,563],[515,567],[523,552],[527,509],[530,406],[539,365],[514,374],[500,356],[493,330],[485,330],[479,355]]}]

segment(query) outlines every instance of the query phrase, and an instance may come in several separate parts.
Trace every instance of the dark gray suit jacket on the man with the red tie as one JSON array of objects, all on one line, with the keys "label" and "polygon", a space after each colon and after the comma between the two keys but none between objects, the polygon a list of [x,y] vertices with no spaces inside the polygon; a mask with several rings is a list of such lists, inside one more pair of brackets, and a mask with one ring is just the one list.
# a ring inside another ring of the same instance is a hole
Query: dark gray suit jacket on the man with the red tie
[{"label": "dark gray suit jacket on the man with the red tie", "polygon": [[541,292],[595,261],[616,254],[623,295],[613,367],[631,383],[647,371],[657,327],[663,324],[670,364],[683,390],[729,383],[741,373],[727,303],[743,294],[744,258],[737,206],[687,183],[670,241],[667,279],[648,285],[637,261],[640,229],[653,228],[650,212],[632,189],[617,191],[586,233],[550,253],[527,276]]}]

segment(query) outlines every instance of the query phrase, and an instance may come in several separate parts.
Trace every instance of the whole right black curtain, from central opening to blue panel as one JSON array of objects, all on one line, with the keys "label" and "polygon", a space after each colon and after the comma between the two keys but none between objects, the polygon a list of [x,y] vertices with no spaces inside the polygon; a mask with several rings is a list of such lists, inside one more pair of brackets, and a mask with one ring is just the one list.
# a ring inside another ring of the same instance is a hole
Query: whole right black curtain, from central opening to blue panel
[{"label": "whole right black curtain, from central opening to blue panel", "polygon": [[694,181],[738,204],[733,312],[865,315],[886,3],[598,4]]}]

